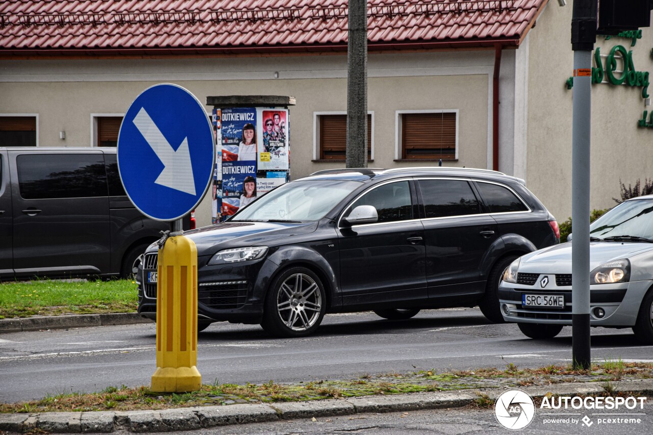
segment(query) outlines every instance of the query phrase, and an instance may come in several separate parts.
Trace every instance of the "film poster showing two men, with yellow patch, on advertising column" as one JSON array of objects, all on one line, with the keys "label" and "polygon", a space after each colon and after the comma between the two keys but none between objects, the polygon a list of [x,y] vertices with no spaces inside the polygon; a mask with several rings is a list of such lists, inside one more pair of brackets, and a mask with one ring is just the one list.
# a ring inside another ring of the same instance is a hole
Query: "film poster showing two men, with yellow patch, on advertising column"
[{"label": "film poster showing two men, with yellow patch, on advertising column", "polygon": [[288,170],[288,110],[259,109],[259,170]]}]

